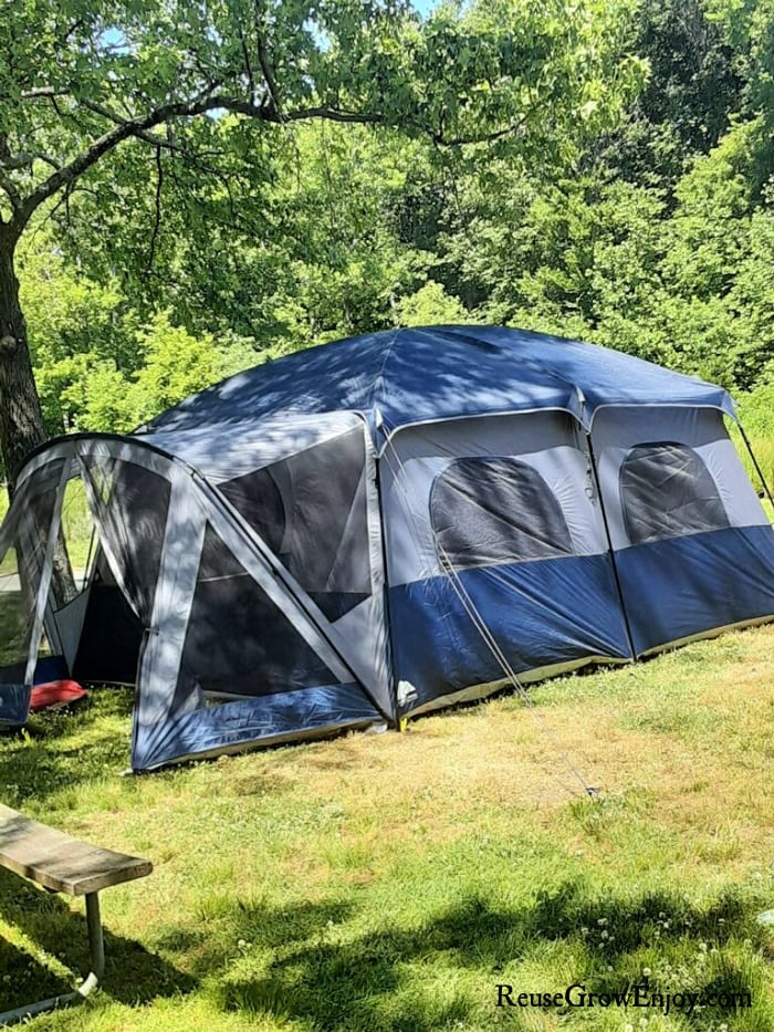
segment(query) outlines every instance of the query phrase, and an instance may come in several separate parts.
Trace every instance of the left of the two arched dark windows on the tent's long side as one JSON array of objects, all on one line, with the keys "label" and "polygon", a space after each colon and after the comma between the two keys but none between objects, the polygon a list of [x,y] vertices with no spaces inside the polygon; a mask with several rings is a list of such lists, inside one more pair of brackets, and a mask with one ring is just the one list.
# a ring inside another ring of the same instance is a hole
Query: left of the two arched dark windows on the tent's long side
[{"label": "left of the two arched dark windows on the tent's long side", "polygon": [[569,555],[559,503],[519,459],[458,459],[436,479],[430,519],[444,566],[491,566]]}]

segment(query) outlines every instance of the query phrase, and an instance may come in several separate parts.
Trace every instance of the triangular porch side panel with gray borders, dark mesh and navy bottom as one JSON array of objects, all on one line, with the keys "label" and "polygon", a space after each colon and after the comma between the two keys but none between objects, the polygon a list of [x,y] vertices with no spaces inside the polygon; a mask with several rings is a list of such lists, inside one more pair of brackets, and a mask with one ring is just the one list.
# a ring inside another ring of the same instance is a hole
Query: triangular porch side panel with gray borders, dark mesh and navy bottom
[{"label": "triangular porch side panel with gray borders, dark mesh and navy bottom", "polygon": [[144,643],[133,767],[378,720],[282,585],[238,541],[227,544],[207,500],[185,509],[185,488],[175,488]]}]

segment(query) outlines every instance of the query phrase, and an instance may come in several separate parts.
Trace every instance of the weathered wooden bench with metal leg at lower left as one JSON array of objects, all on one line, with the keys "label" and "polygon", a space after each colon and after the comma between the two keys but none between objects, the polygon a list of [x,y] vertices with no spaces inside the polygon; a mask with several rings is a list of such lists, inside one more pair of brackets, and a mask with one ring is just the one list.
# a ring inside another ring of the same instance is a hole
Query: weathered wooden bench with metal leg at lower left
[{"label": "weathered wooden bench with metal leg at lower left", "polygon": [[100,918],[100,893],[111,885],[144,878],[149,861],[100,849],[63,832],[30,821],[0,804],[0,867],[36,882],[53,893],[86,897],[86,924],[92,969],[74,991],[0,1013],[0,1025],[84,1000],[105,971],[105,945]]}]

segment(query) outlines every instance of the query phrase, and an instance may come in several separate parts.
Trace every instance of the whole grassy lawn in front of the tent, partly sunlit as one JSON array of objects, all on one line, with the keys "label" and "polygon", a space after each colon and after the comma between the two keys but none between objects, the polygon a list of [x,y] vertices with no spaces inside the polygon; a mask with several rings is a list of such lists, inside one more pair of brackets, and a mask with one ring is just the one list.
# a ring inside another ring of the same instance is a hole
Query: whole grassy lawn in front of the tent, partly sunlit
[{"label": "whole grassy lawn in front of the tent, partly sunlit", "polygon": [[[532,698],[140,778],[127,692],[0,739],[8,803],[156,867],[103,896],[103,990],[30,1028],[774,1030],[774,626]],[[79,905],[0,897],[0,1000],[63,990]],[[753,1008],[495,1007],[646,969]]]}]

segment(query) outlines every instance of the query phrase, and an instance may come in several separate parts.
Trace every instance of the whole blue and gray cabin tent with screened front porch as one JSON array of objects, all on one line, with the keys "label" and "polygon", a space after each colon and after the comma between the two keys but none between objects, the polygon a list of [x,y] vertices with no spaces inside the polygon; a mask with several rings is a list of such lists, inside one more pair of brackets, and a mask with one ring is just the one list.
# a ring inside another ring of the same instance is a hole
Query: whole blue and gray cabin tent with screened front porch
[{"label": "whole blue and gray cabin tent with screened front porch", "polygon": [[136,685],[148,770],[772,619],[774,530],[724,416],[722,388],[614,351],[433,326],[54,440],[0,531],[0,719],[41,679]]}]

